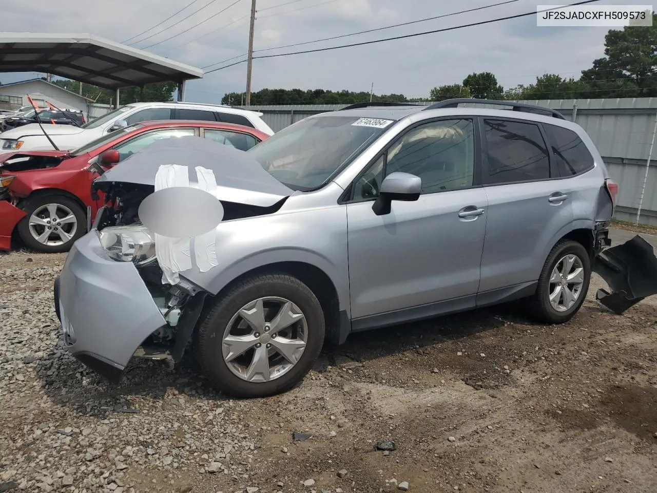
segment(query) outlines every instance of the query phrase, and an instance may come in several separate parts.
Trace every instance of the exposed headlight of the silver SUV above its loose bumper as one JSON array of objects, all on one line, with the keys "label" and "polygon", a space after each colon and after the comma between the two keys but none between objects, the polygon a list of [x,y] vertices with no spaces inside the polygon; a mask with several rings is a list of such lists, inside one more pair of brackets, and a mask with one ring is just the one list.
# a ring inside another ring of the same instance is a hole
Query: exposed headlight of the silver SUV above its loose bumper
[{"label": "exposed headlight of the silver SUV above its loose bumper", "polygon": [[98,233],[108,256],[143,266],[155,258],[155,239],[150,229],[139,226],[110,226]]}]

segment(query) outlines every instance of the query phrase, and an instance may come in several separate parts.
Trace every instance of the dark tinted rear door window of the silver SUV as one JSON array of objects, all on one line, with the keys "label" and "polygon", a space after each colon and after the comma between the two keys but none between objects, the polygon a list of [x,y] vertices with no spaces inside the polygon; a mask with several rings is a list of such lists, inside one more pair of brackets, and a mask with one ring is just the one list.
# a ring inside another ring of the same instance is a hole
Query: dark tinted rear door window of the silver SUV
[{"label": "dark tinted rear door window of the silver SUV", "polygon": [[487,183],[548,179],[547,146],[537,125],[484,120],[488,148]]}]

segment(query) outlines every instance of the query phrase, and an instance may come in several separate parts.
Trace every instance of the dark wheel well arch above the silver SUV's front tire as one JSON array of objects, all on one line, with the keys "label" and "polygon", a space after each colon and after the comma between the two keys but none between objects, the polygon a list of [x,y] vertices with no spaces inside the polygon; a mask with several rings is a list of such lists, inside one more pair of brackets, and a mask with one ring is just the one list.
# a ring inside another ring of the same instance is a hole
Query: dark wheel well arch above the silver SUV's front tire
[{"label": "dark wheel well arch above the silver SUV's front tire", "polygon": [[217,297],[244,279],[271,273],[291,275],[304,283],[317,296],[317,300],[322,307],[327,335],[331,333],[332,329],[338,329],[340,326],[338,291],[333,281],[331,281],[330,277],[323,270],[312,264],[306,264],[306,262],[279,262],[252,269],[233,279],[231,283],[217,293]]}]

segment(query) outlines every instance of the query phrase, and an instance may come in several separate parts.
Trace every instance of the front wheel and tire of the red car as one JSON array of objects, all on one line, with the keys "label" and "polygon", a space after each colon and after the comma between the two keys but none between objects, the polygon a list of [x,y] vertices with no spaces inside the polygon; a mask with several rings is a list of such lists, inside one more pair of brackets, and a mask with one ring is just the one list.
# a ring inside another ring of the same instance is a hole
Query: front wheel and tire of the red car
[{"label": "front wheel and tire of the red car", "polygon": [[28,197],[21,208],[27,216],[18,223],[18,235],[25,245],[37,252],[68,252],[86,233],[85,212],[78,202],[65,195],[49,193]]}]

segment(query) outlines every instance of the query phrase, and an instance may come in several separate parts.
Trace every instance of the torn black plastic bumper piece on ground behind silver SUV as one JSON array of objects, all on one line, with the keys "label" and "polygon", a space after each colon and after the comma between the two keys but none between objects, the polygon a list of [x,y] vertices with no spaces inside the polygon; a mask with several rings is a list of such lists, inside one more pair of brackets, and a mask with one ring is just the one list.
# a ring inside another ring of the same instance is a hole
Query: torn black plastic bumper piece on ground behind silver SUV
[{"label": "torn black plastic bumper piece on ground behind silver SUV", "polygon": [[657,258],[652,245],[639,235],[622,245],[602,250],[595,257],[593,271],[612,291],[599,289],[596,299],[615,314],[620,315],[657,294]]}]

